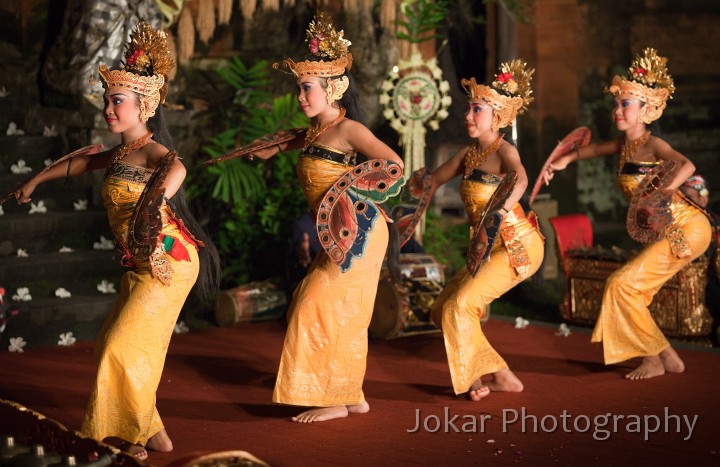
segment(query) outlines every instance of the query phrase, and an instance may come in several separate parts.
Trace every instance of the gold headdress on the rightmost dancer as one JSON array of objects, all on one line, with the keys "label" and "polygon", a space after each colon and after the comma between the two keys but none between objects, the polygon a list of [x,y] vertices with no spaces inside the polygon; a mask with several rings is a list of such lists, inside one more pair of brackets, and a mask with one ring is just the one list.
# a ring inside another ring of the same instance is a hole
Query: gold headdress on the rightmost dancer
[{"label": "gold headdress on the rightmost dancer", "polygon": [[629,95],[645,103],[640,109],[640,120],[652,123],[660,118],[667,100],[675,92],[672,76],[667,71],[667,58],[661,57],[652,48],[643,50],[643,56],[635,56],[630,68],[630,76],[615,75],[612,84],[605,89],[615,96]]}]

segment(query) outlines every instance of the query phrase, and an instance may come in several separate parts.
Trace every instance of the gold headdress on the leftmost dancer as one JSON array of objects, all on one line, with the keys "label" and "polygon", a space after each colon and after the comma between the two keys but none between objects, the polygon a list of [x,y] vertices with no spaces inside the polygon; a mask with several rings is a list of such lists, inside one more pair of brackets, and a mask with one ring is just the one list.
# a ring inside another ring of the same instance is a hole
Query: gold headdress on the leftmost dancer
[{"label": "gold headdress on the leftmost dancer", "polygon": [[103,87],[121,86],[140,96],[140,118],[147,121],[167,96],[167,74],[175,67],[167,44],[167,34],[154,30],[145,22],[139,23],[125,46],[125,67],[98,69]]}]

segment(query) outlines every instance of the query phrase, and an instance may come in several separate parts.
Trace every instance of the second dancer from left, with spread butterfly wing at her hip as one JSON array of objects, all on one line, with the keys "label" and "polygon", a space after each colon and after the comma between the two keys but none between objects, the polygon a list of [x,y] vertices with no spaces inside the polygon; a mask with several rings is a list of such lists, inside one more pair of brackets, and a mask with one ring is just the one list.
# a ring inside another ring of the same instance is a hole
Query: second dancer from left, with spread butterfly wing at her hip
[{"label": "second dancer from left, with spread butterfly wing at her hip", "polygon": [[[403,180],[400,157],[355,120],[352,54],[343,31],[318,12],[306,40],[310,55],[283,64],[296,77],[310,127],[304,138],[253,152],[267,159],[303,149],[296,170],[324,248],[295,289],[273,394],[277,403],[313,407],[293,417],[300,423],[370,409],[362,390],[367,332],[388,246],[385,213],[376,202],[396,194]],[[355,165],[357,153],[368,162]]]}]

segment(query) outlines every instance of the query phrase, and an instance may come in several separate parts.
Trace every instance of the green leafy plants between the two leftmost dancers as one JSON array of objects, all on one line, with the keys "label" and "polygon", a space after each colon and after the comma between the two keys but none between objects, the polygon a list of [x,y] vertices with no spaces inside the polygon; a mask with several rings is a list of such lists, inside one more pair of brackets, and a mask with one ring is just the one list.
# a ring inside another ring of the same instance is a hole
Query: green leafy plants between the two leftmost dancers
[{"label": "green leafy plants between the two leftmost dancers", "polygon": [[[231,104],[214,109],[223,128],[203,146],[218,157],[265,134],[307,126],[297,99],[269,91],[266,61],[247,66],[238,58],[215,70],[233,91]],[[212,219],[213,240],[227,285],[282,274],[293,219],[307,210],[295,175],[298,151],[269,162],[236,158],[191,174],[188,193]]]}]

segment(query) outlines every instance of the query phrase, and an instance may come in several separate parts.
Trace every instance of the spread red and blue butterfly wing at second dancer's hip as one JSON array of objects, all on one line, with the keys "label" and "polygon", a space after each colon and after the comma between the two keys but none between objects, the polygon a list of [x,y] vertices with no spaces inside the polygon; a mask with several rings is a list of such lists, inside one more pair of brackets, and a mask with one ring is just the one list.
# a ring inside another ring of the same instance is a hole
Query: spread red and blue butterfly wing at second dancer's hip
[{"label": "spread red and blue butterfly wing at second dancer's hip", "polygon": [[350,169],[325,193],[317,213],[318,238],[342,272],[363,256],[368,233],[383,215],[378,204],[400,193],[404,184],[399,165],[371,159]]}]

